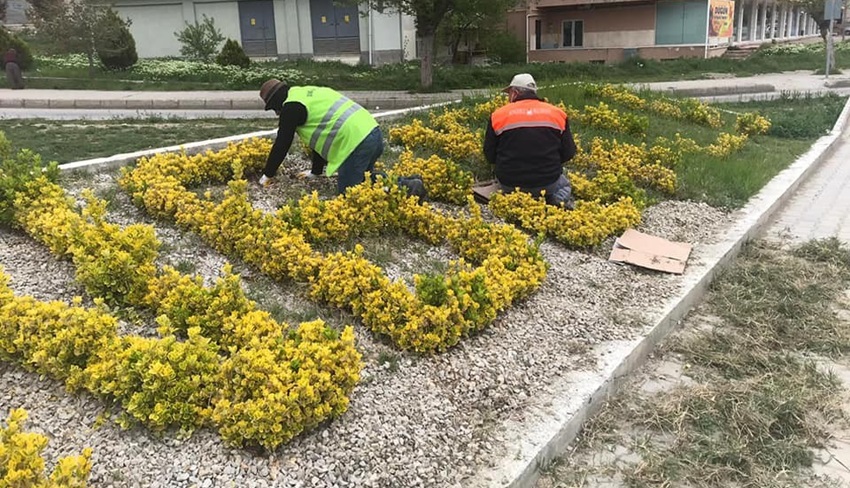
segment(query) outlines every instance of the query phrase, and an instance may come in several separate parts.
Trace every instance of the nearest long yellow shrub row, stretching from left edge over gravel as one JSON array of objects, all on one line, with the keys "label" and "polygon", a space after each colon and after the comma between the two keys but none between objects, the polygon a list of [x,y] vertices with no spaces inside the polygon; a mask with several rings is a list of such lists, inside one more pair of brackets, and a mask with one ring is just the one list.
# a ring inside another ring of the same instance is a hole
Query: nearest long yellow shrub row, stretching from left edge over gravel
[{"label": "nearest long yellow shrub row, stretching from left edge over gravel", "polygon": [[[351,327],[339,333],[314,321],[289,329],[251,310],[223,319],[223,344],[203,337],[200,327],[177,340],[166,315],[159,317],[161,338],[119,336],[115,318],[102,309],[16,297],[7,282],[0,274],[0,357],[115,401],[128,421],[153,429],[208,425],[233,445],[274,449],[341,415],[359,379]],[[239,377],[263,378],[266,386]],[[256,430],[242,428],[246,420]]]}]

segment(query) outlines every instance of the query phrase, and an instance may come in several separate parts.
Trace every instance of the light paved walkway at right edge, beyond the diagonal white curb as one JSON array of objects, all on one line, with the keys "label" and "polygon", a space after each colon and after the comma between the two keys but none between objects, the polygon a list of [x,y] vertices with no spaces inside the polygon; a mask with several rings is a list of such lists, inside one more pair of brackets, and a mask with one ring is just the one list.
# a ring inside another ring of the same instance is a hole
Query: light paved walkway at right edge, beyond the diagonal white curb
[{"label": "light paved walkway at right edge, beyond the diagonal white curb", "polygon": [[840,145],[768,228],[768,238],[792,242],[836,236],[850,244],[850,126]]}]

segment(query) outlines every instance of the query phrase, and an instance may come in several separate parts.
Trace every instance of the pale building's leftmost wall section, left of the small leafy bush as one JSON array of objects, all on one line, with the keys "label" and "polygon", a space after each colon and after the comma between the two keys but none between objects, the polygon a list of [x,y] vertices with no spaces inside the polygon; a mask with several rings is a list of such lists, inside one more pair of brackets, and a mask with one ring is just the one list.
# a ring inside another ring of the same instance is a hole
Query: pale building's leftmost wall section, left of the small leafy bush
[{"label": "pale building's leftmost wall section, left of the small leafy bush", "polygon": [[[129,18],[130,33],[136,40],[139,57],[179,56],[180,41],[174,33],[184,27],[183,4],[116,5],[121,17]],[[194,19],[187,19],[194,21]]]}]

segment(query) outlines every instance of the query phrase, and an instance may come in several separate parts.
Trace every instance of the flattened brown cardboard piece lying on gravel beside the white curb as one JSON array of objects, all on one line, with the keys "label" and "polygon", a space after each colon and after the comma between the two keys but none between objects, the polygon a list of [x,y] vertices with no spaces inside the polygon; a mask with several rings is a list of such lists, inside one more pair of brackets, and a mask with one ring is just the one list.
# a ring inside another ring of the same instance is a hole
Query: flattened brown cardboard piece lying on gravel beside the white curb
[{"label": "flattened brown cardboard piece lying on gravel beside the white curb", "polygon": [[614,242],[609,261],[633,264],[641,268],[682,274],[692,246],[628,229]]}]

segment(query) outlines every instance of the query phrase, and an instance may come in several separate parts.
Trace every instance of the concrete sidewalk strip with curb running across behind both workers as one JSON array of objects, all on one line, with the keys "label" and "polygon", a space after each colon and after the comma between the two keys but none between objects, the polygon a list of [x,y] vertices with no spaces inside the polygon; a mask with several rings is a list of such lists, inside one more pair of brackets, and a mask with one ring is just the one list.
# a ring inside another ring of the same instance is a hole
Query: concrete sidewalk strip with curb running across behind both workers
[{"label": "concrete sidewalk strip with curb running across behind both workers", "polygon": [[[691,97],[729,101],[745,94],[778,96],[783,92],[850,92],[850,74],[830,76],[811,71],[792,71],[741,78],[722,75],[703,80],[662,81],[634,84],[652,90]],[[345,91],[370,110],[395,110],[459,100],[464,96],[486,96],[490,89],[455,90],[443,93],[403,91]],[[263,105],[258,91],[95,91],[95,90],[10,90],[0,89],[0,108],[31,109],[123,109],[123,110],[257,110]]]}]

